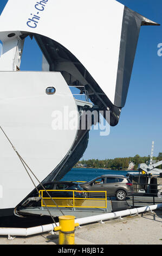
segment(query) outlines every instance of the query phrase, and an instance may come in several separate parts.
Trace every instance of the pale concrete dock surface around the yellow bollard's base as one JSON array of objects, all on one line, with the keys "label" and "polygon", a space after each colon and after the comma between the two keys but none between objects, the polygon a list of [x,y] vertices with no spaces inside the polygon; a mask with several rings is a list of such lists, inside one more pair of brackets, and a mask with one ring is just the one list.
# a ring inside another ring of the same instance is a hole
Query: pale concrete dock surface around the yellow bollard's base
[{"label": "pale concrete dock surface around the yellow bollard's base", "polygon": [[[31,237],[0,237],[0,245],[58,245],[59,232]],[[75,230],[76,245],[162,245],[162,209],[138,216],[83,225]]]}]

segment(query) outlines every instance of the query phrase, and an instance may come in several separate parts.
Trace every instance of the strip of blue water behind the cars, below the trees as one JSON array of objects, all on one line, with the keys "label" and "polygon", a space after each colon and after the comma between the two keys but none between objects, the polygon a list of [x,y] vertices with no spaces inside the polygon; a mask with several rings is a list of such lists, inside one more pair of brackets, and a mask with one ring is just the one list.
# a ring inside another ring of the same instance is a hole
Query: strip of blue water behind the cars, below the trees
[{"label": "strip of blue water behind the cars, below the trees", "polygon": [[[132,171],[131,171],[132,172]],[[105,170],[96,168],[72,168],[64,177],[63,181],[90,181],[102,174],[126,175],[126,170]]]}]

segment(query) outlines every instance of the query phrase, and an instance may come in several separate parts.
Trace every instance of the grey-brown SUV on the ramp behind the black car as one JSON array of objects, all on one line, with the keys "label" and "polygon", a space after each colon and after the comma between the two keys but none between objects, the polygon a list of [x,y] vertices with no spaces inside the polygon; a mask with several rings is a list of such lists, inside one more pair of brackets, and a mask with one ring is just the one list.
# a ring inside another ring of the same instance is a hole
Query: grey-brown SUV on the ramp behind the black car
[{"label": "grey-brown SUV on the ramp behind the black car", "polygon": [[[115,196],[117,200],[125,200],[134,193],[132,182],[123,175],[101,175],[89,182],[80,184],[87,191],[107,191],[107,196]],[[101,196],[103,193],[88,193],[87,197]]]}]

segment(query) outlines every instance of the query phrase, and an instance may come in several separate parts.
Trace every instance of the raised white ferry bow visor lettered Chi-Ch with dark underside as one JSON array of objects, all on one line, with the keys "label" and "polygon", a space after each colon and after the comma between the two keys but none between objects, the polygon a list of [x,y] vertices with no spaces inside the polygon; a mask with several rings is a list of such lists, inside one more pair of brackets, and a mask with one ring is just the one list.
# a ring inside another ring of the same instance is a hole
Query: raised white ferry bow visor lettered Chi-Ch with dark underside
[{"label": "raised white ferry bow visor lettered Chi-Ch with dark underside", "polygon": [[[21,11],[20,6],[21,0],[8,1],[0,17],[0,31],[34,35],[49,71],[61,71],[67,84],[85,87],[99,110],[111,112],[109,124],[118,124],[140,27],[158,24],[115,0],[102,0],[102,5],[98,0],[28,0]],[[57,26],[53,29],[53,25]]]}]

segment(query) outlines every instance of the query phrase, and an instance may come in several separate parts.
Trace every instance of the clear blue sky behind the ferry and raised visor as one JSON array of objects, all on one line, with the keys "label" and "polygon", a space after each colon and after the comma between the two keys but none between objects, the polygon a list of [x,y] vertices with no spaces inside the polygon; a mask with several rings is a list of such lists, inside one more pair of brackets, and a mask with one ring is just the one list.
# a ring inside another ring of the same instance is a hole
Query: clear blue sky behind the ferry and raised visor
[{"label": "clear blue sky behind the ferry and raised visor", "polygon": [[[7,2],[1,0],[0,13]],[[100,136],[100,131],[90,131],[84,159],[112,159],[135,154],[147,156],[151,154],[152,141],[154,156],[162,151],[162,56],[159,57],[157,54],[158,44],[162,44],[162,1],[118,2],[160,23],[161,26],[141,27],[127,101],[121,111],[119,124],[111,127],[109,136]],[[40,50],[35,41],[31,41],[30,44],[33,44],[34,51],[24,56],[25,61],[22,62],[21,70],[41,70]],[[29,39],[24,50],[28,48]]]}]

